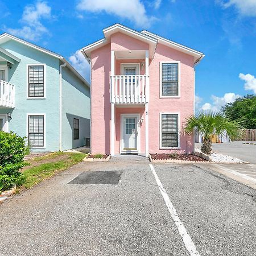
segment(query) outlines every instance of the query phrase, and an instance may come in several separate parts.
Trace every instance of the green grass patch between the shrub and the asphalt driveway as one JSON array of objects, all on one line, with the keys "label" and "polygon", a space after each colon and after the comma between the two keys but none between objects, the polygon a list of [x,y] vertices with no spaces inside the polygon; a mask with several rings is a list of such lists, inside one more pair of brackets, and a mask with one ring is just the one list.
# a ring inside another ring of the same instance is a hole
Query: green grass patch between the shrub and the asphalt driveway
[{"label": "green grass patch between the shrub and the asphalt driveway", "polygon": [[[57,160],[56,162],[52,162],[52,159],[56,158],[59,155],[69,155],[67,159]],[[63,152],[56,152],[53,154],[49,154],[46,156],[41,156],[38,158],[31,159],[32,161],[40,161],[49,159],[51,162],[43,163],[38,166],[34,166],[31,168],[27,168],[24,170],[23,174],[26,176],[26,181],[23,184],[25,188],[31,188],[34,185],[38,184],[40,181],[44,179],[48,179],[53,175],[57,174],[58,172],[67,170],[69,167],[80,163],[82,159],[84,159],[86,154],[82,153],[63,153]],[[35,160],[36,159],[36,160]]]}]

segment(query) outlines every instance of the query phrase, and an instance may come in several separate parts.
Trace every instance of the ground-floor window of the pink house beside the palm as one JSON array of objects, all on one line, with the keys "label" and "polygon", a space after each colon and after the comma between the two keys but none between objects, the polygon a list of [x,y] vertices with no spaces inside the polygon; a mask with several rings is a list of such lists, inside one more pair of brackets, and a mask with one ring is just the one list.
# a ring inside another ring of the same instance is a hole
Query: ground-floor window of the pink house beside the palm
[{"label": "ground-floor window of the pink house beside the palm", "polygon": [[160,147],[178,147],[178,115],[160,114]]}]

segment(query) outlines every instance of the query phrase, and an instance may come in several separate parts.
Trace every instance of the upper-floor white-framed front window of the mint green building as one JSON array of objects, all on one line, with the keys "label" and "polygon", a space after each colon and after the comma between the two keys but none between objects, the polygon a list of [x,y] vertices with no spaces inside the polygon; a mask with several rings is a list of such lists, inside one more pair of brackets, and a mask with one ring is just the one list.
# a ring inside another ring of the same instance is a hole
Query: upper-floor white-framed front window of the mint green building
[{"label": "upper-floor white-framed front window of the mint green building", "polygon": [[45,97],[44,65],[28,66],[28,97]]}]

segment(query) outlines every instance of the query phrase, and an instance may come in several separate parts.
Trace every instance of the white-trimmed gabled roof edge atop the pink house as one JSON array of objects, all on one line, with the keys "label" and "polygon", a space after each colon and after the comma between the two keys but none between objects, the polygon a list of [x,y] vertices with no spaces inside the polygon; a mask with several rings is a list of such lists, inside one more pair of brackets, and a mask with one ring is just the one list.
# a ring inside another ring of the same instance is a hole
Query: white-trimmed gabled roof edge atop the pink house
[{"label": "white-trimmed gabled roof edge atop the pink house", "polygon": [[201,59],[203,59],[204,54],[202,52],[196,51],[195,49],[189,48],[187,46],[183,46],[182,44],[178,44],[166,38],[162,38],[162,36],[153,34],[149,31],[143,30],[138,32],[136,30],[132,30],[129,27],[123,26],[122,24],[114,24],[113,26],[104,28],[103,34],[104,38],[98,40],[88,46],[83,47],[80,51],[84,54],[86,59],[90,59],[90,53],[97,48],[105,46],[110,42],[110,36],[116,32],[122,32],[123,34],[132,36],[143,42],[146,42],[150,45],[150,58],[154,57],[155,48],[158,43],[164,44],[168,47],[177,49],[177,51],[181,51],[187,53],[188,55],[192,55],[194,57],[195,63],[199,63]]}]

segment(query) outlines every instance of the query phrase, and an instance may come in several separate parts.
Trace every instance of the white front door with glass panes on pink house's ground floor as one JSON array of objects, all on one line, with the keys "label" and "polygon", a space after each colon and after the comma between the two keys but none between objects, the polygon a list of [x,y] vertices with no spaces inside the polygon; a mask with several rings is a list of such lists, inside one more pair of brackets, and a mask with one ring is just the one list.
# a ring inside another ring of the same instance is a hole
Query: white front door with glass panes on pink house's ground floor
[{"label": "white front door with glass panes on pink house's ground floor", "polygon": [[138,151],[138,117],[122,116],[122,152]]}]

